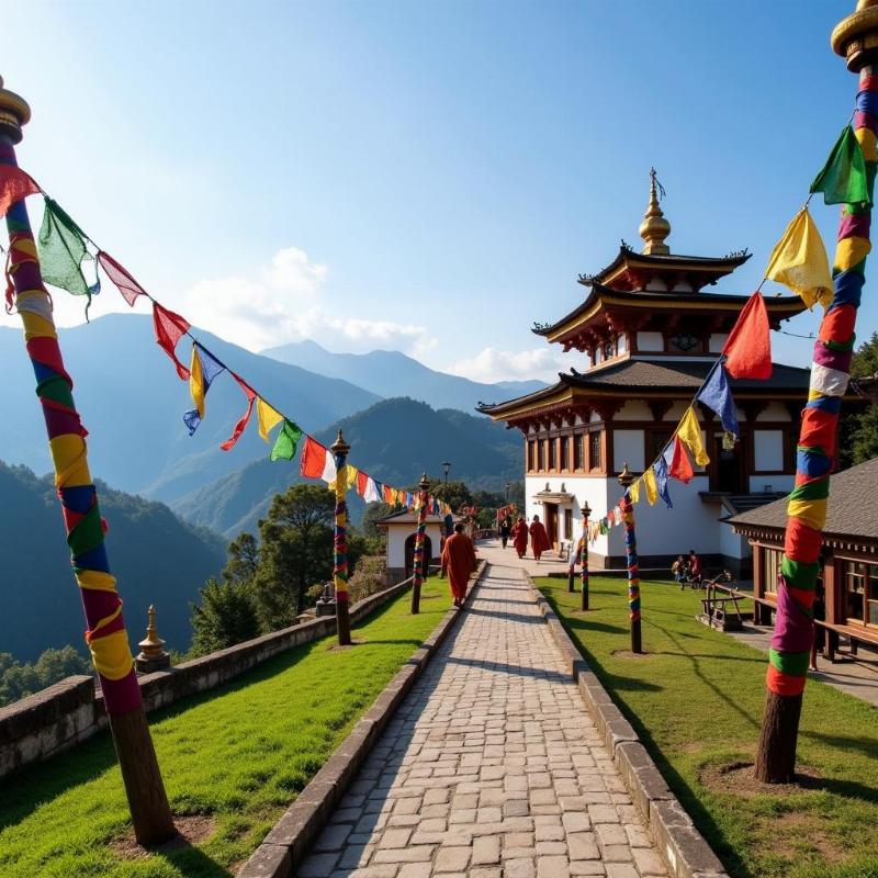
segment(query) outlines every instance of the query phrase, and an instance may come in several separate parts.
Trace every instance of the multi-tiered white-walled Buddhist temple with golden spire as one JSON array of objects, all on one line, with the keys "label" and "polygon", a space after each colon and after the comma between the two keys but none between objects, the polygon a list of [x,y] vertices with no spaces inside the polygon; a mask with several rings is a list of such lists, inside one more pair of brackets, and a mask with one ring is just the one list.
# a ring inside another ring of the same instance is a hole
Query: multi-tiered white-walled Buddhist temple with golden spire
[{"label": "multi-tiered white-walled Buddhist temple with golden spire", "polygon": [[[524,434],[527,515],[539,515],[563,552],[582,533],[587,502],[600,518],[619,500],[617,475],[649,466],[722,350],[752,291],[708,292],[750,256],[682,256],[667,245],[671,223],[660,206],[661,185],[651,172],[641,252],[622,243],[595,274],[579,275],[582,304],[533,331],[564,351],[582,354],[582,367],[550,387],[480,410]],[[799,314],[799,296],[767,296],[773,329]],[[707,466],[688,483],[672,483],[673,509],[661,502],[635,507],[641,566],[669,565],[695,549],[708,569],[748,567],[750,547],[720,519],[775,499],[792,487],[799,413],[809,370],[775,363],[767,381],[732,380],[740,436],[733,448],[706,406],[696,405]],[[624,566],[622,529],[610,528],[589,545],[596,569]],[[743,569],[743,570],[742,570]]]}]

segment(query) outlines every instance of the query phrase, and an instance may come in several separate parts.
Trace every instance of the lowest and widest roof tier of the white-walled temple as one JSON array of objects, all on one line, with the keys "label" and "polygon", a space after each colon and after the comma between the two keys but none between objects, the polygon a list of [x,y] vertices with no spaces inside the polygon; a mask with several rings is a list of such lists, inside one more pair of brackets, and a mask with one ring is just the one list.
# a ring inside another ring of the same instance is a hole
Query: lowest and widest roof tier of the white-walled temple
[{"label": "lowest and widest roof tier of the white-walled temple", "polygon": [[[649,399],[682,399],[696,394],[714,362],[627,359],[588,372],[572,370],[559,374],[559,382],[551,387],[505,403],[482,403],[479,410],[514,426],[519,419],[534,416],[618,408],[639,394]],[[810,375],[808,369],[775,363],[772,378],[766,381],[730,378],[729,383],[740,402],[776,399],[803,404]]]}]

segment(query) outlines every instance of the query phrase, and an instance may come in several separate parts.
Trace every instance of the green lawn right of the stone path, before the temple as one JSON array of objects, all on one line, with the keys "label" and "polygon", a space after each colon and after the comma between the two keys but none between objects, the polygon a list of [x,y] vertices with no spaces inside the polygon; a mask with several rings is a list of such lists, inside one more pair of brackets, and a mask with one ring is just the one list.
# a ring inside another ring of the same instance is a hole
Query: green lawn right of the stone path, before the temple
[{"label": "green lawn right of the stone path, before the temple", "polygon": [[697,622],[700,593],[658,582],[641,586],[650,654],[614,655],[630,648],[623,579],[593,577],[587,614],[565,581],[537,585],[732,876],[878,876],[878,710],[810,680],[798,765],[817,779],[783,795],[732,789],[731,775],[716,778],[753,761],[767,658]]}]

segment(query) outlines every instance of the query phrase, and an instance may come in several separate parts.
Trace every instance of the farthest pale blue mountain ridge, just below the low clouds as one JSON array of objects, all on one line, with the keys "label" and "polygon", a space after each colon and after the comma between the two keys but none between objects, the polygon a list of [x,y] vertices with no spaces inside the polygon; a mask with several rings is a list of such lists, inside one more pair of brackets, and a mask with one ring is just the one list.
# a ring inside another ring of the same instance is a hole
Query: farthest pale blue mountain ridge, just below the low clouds
[{"label": "farthest pale blue mountain ridge, just below the low clouds", "polygon": [[545,386],[541,381],[502,381],[482,384],[460,375],[428,369],[398,350],[370,353],[330,353],[315,341],[295,341],[262,353],[329,378],[344,379],[379,396],[408,396],[434,408],[472,413],[480,402],[496,403]]}]

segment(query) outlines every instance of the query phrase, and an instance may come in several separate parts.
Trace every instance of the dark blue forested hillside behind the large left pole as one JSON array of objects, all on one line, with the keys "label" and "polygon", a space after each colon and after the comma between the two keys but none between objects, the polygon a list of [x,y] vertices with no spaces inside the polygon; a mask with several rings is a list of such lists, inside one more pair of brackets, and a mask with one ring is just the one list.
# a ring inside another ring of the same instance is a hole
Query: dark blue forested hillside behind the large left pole
[{"label": "dark blue forested hillside behind the large left pole", "polygon": [[[224,541],[181,521],[160,503],[98,485],[106,548],[125,605],[132,645],[146,631],[155,604],[159,634],[185,651],[192,638],[190,601],[225,563]],[[85,651],[85,617],[52,476],[0,462],[0,652],[32,661],[67,643]]]}]

